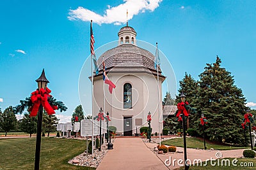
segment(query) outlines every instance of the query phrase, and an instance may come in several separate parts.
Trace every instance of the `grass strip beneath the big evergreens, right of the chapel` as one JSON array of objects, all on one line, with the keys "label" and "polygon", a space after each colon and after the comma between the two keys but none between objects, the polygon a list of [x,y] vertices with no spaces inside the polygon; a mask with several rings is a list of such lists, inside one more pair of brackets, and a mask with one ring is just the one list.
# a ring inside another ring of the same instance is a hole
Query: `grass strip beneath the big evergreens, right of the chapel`
[{"label": "grass strip beneath the big evergreens, right of the chapel", "polygon": [[[198,138],[186,138],[186,143],[187,143],[187,148],[204,148],[204,141]],[[161,142],[161,144],[183,147],[183,138],[168,139],[166,141]],[[206,142],[205,145],[207,146],[207,149],[214,148],[214,150],[235,150],[235,149],[244,149],[244,148],[250,149],[250,147],[216,145],[208,142]]]}]

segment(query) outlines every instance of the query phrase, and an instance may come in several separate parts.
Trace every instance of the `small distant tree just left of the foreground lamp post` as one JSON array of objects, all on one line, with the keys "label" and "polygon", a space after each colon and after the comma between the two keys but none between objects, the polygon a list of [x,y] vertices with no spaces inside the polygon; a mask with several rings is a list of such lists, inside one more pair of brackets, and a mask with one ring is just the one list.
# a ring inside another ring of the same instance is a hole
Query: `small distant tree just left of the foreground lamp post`
[{"label": "small distant tree just left of the foreground lamp post", "polygon": [[37,120],[36,117],[29,117],[28,113],[25,113],[23,118],[19,120],[20,129],[22,132],[28,133],[31,138],[31,134],[36,133]]}]

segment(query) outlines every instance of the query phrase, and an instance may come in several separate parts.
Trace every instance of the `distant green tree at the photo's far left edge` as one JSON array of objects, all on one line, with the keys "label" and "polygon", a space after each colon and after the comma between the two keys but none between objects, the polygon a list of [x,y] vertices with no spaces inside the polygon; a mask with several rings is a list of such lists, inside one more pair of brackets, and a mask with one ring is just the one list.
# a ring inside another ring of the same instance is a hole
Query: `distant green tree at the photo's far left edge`
[{"label": "distant green tree at the photo's far left edge", "polygon": [[2,131],[5,132],[5,136],[7,132],[15,129],[17,124],[17,118],[15,117],[12,106],[9,106],[4,110],[4,112],[0,112],[0,127]]}]

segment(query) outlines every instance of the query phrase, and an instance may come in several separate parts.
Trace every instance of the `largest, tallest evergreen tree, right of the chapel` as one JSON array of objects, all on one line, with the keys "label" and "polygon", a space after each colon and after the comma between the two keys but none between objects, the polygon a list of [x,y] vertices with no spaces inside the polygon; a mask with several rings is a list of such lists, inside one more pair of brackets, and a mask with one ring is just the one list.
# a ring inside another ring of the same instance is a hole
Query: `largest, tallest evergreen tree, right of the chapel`
[{"label": "largest, tallest evergreen tree, right of the chapel", "polygon": [[243,130],[240,128],[243,119],[245,98],[242,90],[234,85],[234,76],[220,66],[221,60],[217,56],[214,64],[207,64],[205,71],[200,74],[198,97],[195,107],[194,127],[200,130],[201,114],[208,120],[207,138],[212,141],[242,144]]}]

